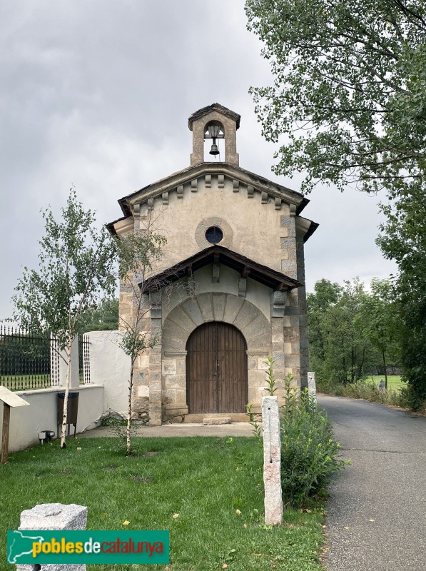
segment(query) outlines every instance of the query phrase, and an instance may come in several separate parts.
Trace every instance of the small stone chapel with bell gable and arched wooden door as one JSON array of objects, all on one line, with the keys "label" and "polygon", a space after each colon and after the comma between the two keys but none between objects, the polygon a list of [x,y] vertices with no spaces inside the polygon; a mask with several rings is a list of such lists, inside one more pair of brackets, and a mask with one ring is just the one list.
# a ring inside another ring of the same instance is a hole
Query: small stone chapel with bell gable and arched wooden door
[{"label": "small stone chapel with bell gable and arched wooden door", "polygon": [[[304,244],[318,224],[301,216],[300,193],[240,167],[239,126],[218,103],[193,113],[190,166],[121,198],[123,217],[108,225],[123,236],[151,217],[167,239],[142,285],[142,328],[157,344],[136,362],[133,410],[150,425],[247,420],[266,395],[269,355],[276,378],[307,385]],[[122,284],[122,318],[132,295]]]}]

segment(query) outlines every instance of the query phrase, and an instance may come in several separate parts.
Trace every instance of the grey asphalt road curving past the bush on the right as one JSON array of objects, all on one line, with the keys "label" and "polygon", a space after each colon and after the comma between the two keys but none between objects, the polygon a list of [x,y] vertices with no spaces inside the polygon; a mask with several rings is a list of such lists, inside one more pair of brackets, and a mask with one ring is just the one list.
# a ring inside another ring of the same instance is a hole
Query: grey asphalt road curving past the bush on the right
[{"label": "grey asphalt road curving past the bush on the right", "polygon": [[426,569],[426,418],[318,395],[343,458],[330,487],[328,571]]}]

